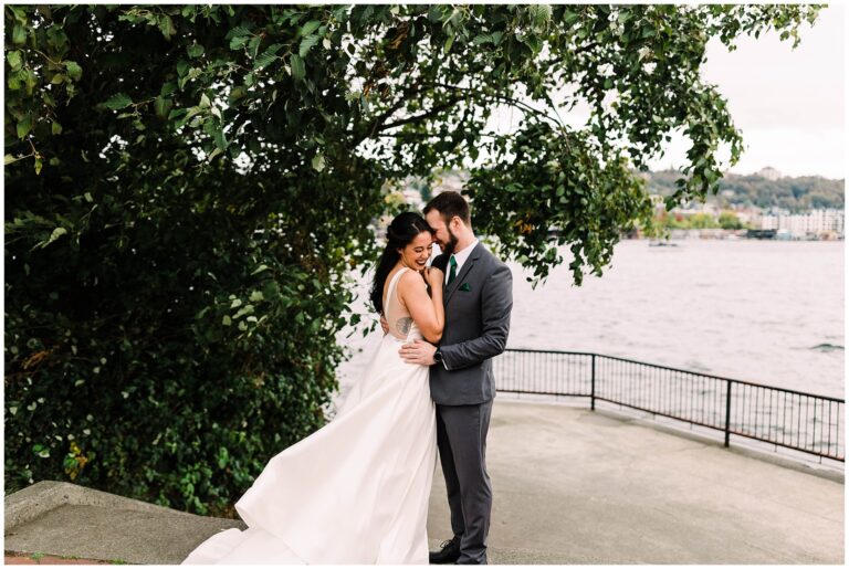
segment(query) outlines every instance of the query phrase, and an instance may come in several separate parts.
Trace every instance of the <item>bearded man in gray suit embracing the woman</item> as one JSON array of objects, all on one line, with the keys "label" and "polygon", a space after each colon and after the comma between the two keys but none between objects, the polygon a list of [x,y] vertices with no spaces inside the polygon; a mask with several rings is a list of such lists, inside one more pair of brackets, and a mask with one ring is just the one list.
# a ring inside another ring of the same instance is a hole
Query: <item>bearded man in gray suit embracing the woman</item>
[{"label": "bearded man in gray suit embracing the woman", "polygon": [[405,345],[409,363],[430,366],[437,404],[437,445],[454,536],[431,551],[431,563],[485,565],[492,486],[486,474],[486,432],[495,384],[491,358],[504,351],[513,308],[513,277],[474,236],[469,204],[446,191],[424,208],[446,273],[446,327],[439,347]]}]

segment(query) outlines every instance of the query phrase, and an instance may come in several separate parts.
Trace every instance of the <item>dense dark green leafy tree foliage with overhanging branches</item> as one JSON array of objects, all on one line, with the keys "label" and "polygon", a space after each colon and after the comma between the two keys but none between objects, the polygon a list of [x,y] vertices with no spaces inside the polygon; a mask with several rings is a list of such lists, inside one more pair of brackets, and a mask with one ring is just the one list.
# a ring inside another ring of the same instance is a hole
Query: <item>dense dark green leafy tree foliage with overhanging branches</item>
[{"label": "dense dark green leafy tree foliage with overhanging branches", "polygon": [[[476,229],[599,274],[648,214],[715,190],[740,135],[711,36],[809,7],[4,6],[7,487],[67,476],[226,513],[319,426],[346,274],[409,176],[473,166]],[[554,105],[552,94],[565,101]],[[580,127],[560,119],[589,104]],[[499,106],[522,116],[492,133]],[[472,164],[473,160],[479,160]]]}]

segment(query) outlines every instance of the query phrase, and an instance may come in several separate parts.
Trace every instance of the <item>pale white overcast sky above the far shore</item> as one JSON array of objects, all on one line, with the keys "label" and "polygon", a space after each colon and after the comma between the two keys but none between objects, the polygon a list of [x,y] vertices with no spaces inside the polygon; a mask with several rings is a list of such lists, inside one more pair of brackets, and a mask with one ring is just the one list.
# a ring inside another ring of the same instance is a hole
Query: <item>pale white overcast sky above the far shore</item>
[{"label": "pale white overcast sky above the far shore", "polygon": [[[775,32],[741,39],[733,52],[708,45],[703,77],[727,98],[746,145],[730,171],[846,177],[846,7],[824,8],[800,36],[795,50]],[[685,150],[673,139],[652,169],[682,165]]]}]

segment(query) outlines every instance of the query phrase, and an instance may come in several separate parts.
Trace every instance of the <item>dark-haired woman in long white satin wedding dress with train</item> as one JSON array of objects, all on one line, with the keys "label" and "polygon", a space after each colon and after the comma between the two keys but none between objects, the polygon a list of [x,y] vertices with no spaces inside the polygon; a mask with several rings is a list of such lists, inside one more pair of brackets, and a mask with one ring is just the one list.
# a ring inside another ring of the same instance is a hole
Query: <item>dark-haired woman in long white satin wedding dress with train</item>
[{"label": "dark-haired woman in long white satin wedding dress with train", "polygon": [[211,536],[184,565],[428,563],[434,407],[428,367],[398,349],[442,336],[444,273],[426,267],[432,243],[418,213],[392,220],[370,295],[389,333],[365,375],[333,421],[273,456],[239,498],[248,529]]}]

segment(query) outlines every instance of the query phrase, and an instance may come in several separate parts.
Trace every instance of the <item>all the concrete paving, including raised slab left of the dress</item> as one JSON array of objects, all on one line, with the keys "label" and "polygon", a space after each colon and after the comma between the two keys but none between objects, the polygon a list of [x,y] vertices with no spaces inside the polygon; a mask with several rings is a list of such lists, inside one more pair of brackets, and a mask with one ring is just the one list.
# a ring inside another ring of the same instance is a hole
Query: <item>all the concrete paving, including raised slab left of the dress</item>
[{"label": "all the concrete paving, including raised slab left of the dress", "polygon": [[[499,398],[492,563],[842,563],[843,484],[607,412]],[[6,498],[6,550],[178,563],[239,520],[44,482]],[[441,473],[431,544],[451,536]]]}]

